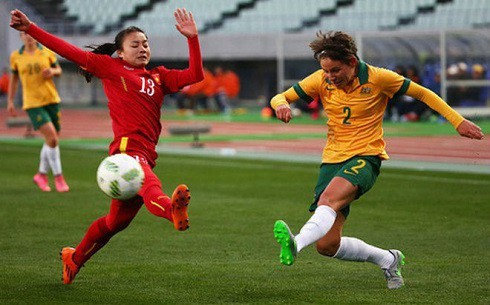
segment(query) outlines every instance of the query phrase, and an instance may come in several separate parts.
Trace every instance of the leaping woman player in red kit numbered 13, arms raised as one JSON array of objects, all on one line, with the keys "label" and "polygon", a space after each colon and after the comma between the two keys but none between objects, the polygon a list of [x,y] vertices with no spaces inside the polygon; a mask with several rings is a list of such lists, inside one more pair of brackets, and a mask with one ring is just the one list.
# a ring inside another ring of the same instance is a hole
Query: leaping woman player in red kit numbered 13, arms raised
[{"label": "leaping woman player in red kit numbered 13, arms raised", "polygon": [[[177,30],[187,38],[189,67],[172,70],[159,66],[146,70],[151,56],[148,37],[137,27],[119,32],[114,43],[105,43],[84,51],[33,24],[19,10],[11,12],[10,26],[24,31],[47,48],[80,66],[87,81],[101,79],[112,119],[114,140],[109,154],[126,153],[142,165],[145,182],[130,200],[112,199],[110,211],[94,221],[76,248],[61,251],[63,283],[71,284],[80,267],[100,250],[112,236],[126,228],[143,204],[154,215],[173,222],[177,230],[189,227],[187,206],[190,192],[181,184],[169,198],[153,173],[162,129],[160,109],[163,97],[203,79],[201,51],[194,18],[185,9],[174,12]],[[116,52],[117,57],[111,57]]]}]

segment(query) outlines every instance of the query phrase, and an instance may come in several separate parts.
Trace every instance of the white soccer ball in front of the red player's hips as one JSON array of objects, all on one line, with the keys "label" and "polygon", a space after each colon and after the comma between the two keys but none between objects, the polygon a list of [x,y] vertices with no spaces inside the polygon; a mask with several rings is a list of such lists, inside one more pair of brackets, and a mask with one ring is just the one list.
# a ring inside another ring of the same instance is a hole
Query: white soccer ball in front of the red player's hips
[{"label": "white soccer ball in front of the red player's hips", "polygon": [[145,173],[133,157],[116,154],[102,160],[97,169],[97,183],[109,197],[126,200],[138,194]]}]

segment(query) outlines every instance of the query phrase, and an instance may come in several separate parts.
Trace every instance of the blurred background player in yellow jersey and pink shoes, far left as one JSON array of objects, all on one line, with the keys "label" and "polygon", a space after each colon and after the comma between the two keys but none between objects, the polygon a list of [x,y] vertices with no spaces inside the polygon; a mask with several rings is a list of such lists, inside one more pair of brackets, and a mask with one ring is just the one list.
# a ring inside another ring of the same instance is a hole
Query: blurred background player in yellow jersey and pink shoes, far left
[{"label": "blurred background player in yellow jersey and pink shoes, far left", "polygon": [[54,176],[58,192],[68,192],[63,177],[58,133],[60,131],[60,97],[53,77],[61,75],[61,67],[53,52],[39,44],[28,34],[21,32],[24,45],[10,55],[11,81],[7,98],[9,115],[16,116],[14,98],[19,80],[22,83],[22,108],[27,112],[35,130],[44,137],[39,171],[34,183],[44,192],[51,191],[48,172]]}]

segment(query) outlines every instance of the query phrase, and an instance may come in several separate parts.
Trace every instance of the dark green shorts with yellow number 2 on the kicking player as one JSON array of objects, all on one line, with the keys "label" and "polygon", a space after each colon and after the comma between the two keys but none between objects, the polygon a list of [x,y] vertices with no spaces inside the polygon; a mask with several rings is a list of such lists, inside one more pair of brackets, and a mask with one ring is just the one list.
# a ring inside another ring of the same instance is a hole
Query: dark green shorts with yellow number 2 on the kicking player
[{"label": "dark green shorts with yellow number 2 on the kicking player", "polygon": [[[354,186],[358,186],[356,195],[356,199],[358,199],[373,187],[376,178],[378,178],[380,167],[381,159],[377,156],[356,156],[341,163],[323,163],[320,166],[320,174],[315,187],[315,198],[310,205],[310,212],[316,210],[320,195],[334,177],[345,178]],[[347,218],[350,205],[340,211]]]}]

